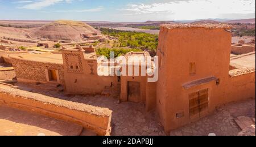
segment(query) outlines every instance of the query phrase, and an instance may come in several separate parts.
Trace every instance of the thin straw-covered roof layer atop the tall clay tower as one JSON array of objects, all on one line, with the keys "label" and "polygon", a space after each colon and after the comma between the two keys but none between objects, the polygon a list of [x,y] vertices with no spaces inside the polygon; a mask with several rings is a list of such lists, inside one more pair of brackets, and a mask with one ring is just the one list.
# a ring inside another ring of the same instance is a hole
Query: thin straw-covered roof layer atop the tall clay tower
[{"label": "thin straw-covered roof layer atop the tall clay tower", "polygon": [[161,24],[160,27],[167,29],[175,28],[207,28],[207,29],[230,29],[231,25],[228,24]]}]

